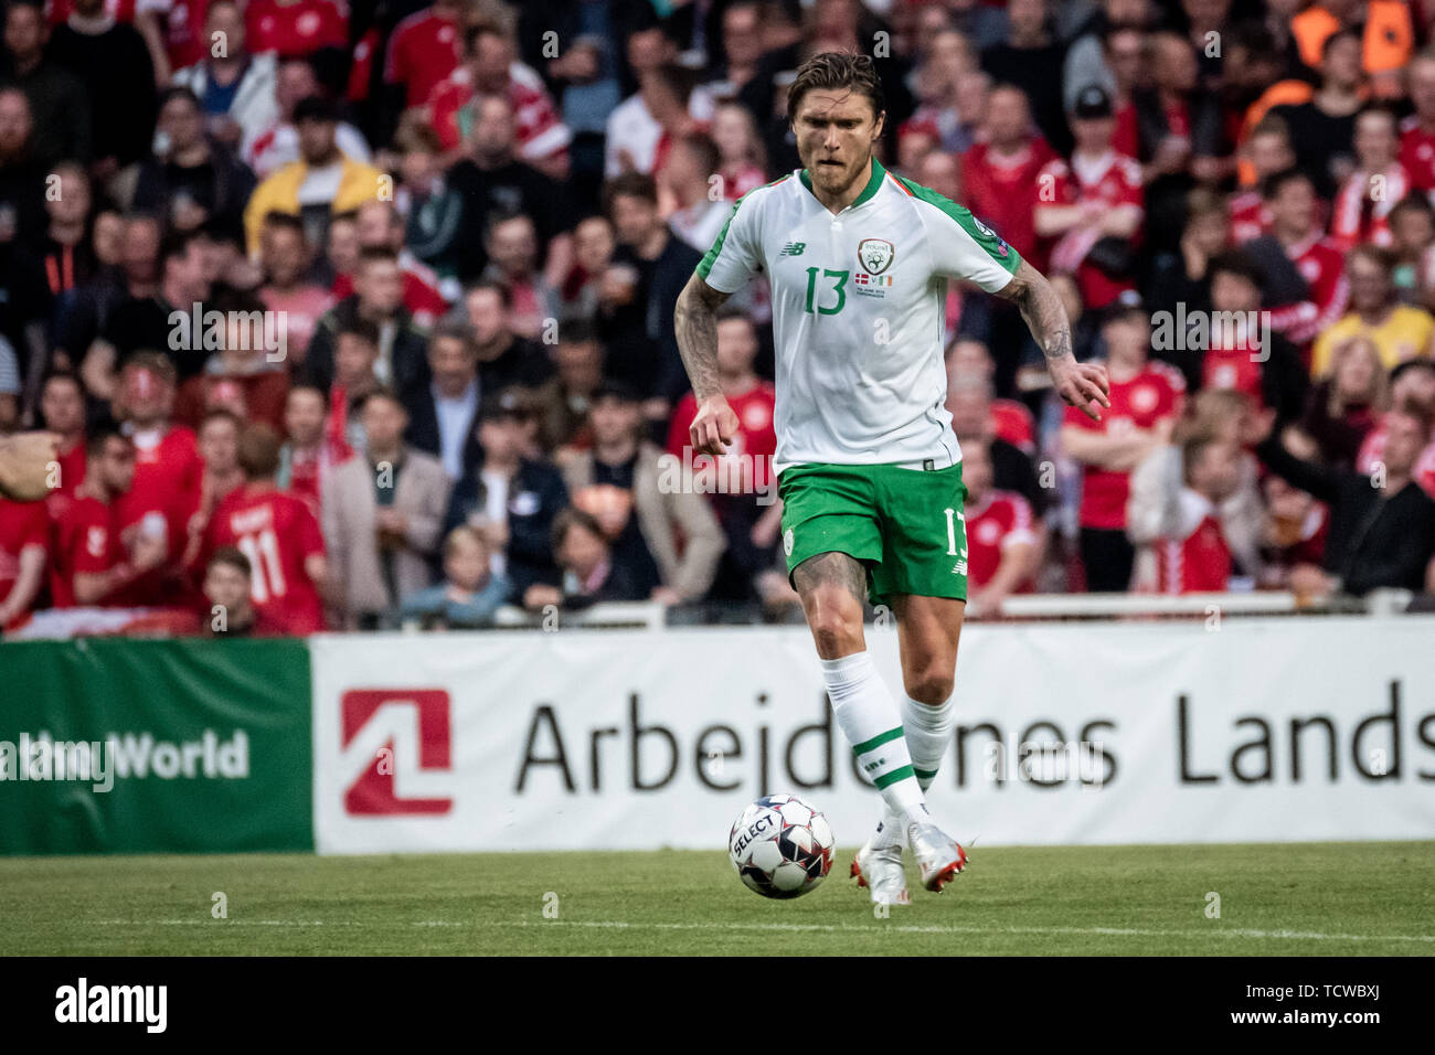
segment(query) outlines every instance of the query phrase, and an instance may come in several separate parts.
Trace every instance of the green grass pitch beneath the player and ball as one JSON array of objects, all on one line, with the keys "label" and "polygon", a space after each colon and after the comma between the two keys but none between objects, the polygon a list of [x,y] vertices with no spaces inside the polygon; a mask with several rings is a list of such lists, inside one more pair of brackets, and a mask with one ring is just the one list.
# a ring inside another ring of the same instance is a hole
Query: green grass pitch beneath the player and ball
[{"label": "green grass pitch beneath the player and ball", "polygon": [[0,955],[1435,955],[1435,843],[977,847],[887,919],[850,861],[769,901],[722,853],[0,858]]}]

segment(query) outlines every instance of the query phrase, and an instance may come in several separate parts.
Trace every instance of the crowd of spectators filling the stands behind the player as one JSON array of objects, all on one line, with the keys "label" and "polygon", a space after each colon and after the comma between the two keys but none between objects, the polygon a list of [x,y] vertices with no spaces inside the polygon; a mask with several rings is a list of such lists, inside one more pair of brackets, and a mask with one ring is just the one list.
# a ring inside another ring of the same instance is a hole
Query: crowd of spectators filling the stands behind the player
[{"label": "crowd of spectators filling the stands behind the player", "polygon": [[825,50],[1109,372],[1062,408],[949,289],[970,611],[1435,589],[1431,0],[9,0],[3,44],[0,432],[62,446],[0,627],[794,613],[769,291],[718,461],[672,320]]}]

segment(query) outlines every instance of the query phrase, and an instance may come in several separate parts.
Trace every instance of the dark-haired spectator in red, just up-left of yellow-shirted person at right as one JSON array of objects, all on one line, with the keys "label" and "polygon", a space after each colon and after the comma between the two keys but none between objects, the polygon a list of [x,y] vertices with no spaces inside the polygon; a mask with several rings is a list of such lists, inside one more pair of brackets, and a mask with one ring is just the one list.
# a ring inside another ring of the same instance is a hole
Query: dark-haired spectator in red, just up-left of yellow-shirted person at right
[{"label": "dark-haired spectator in red, just up-left of yellow-shirted person at right", "polygon": [[1270,324],[1304,355],[1310,342],[1345,314],[1350,283],[1345,257],[1322,233],[1310,177],[1290,169],[1266,181],[1270,234],[1244,251],[1264,273]]}]

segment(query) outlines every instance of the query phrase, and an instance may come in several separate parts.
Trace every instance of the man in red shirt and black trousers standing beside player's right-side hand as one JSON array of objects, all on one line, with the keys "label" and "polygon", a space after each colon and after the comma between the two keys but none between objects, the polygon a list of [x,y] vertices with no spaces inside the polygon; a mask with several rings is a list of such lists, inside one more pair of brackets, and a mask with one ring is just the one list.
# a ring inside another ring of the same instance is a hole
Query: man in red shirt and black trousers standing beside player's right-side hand
[{"label": "man in red shirt and black trousers standing beside player's right-side hand", "polygon": [[1126,538],[1131,471],[1168,442],[1181,412],[1185,380],[1161,362],[1148,362],[1151,323],[1139,304],[1119,304],[1102,324],[1111,408],[1099,422],[1066,408],[1062,446],[1083,466],[1081,554],[1086,589],[1124,591],[1135,551]]}]

